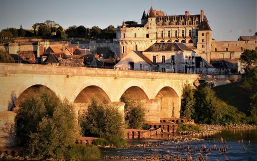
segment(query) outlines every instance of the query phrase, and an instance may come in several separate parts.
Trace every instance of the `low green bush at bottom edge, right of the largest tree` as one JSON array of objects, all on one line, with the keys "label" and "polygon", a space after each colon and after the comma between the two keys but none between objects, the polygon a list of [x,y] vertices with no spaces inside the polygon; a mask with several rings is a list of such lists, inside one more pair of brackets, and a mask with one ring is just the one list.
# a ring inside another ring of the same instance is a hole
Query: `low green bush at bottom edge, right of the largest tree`
[{"label": "low green bush at bottom edge, right of the largest tree", "polygon": [[97,146],[73,145],[69,149],[68,157],[72,161],[87,161],[100,158],[100,150]]}]

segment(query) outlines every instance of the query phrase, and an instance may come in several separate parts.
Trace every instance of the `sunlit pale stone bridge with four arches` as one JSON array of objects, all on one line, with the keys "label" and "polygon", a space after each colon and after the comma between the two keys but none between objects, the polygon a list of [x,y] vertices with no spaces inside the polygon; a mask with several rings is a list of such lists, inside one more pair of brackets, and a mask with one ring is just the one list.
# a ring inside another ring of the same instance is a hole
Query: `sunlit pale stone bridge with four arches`
[{"label": "sunlit pale stone bridge with four arches", "polygon": [[[77,113],[87,108],[92,97],[105,99],[122,112],[122,96],[139,99],[147,123],[160,123],[161,119],[179,118],[182,85],[197,80],[199,75],[192,74],[0,63],[0,129],[13,123],[13,107],[19,107],[29,89],[40,86],[67,98]],[[6,133],[0,132],[0,146],[4,146]]]}]

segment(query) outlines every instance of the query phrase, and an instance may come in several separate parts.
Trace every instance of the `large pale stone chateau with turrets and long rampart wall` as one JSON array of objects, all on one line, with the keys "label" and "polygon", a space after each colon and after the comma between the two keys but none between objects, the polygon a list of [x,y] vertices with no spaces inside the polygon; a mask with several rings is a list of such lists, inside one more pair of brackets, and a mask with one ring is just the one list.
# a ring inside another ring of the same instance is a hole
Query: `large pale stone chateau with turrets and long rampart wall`
[{"label": "large pale stone chateau with turrets and long rampart wall", "polygon": [[151,6],[141,24],[123,22],[114,39],[115,52],[123,58],[132,50],[144,51],[154,43],[179,42],[196,52],[208,63],[212,60],[239,60],[244,49],[257,50],[257,37],[241,36],[238,41],[216,41],[204,11],[200,14],[165,15]]}]

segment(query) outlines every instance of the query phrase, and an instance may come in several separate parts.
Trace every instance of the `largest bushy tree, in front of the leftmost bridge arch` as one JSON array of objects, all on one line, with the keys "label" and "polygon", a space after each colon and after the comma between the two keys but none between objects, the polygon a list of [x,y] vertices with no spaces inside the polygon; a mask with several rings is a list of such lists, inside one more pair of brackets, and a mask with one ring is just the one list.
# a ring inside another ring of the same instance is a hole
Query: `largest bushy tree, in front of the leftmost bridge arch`
[{"label": "largest bushy tree, in front of the leftmost bridge arch", "polygon": [[39,160],[65,159],[80,132],[72,105],[45,87],[20,103],[16,125],[18,143]]}]

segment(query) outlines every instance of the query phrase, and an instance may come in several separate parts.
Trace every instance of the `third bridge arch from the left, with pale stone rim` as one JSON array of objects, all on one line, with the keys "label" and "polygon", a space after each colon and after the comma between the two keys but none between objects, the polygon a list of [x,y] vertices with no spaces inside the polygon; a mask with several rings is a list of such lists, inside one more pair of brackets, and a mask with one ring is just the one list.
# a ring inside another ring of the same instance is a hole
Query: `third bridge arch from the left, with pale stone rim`
[{"label": "third bridge arch from the left, with pale stone rim", "polygon": [[130,80],[125,85],[123,85],[122,89],[119,90],[117,94],[117,101],[119,101],[124,93],[128,92],[128,94],[132,94],[132,92],[138,92],[136,95],[139,99],[149,100],[149,92],[143,83],[140,81]]}]

